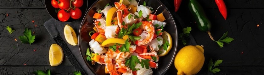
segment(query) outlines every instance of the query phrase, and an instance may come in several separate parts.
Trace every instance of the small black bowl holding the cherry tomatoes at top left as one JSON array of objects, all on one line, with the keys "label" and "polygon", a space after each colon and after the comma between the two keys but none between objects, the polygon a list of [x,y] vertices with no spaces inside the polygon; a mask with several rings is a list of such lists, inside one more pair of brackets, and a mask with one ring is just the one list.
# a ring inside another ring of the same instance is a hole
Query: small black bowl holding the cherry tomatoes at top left
[{"label": "small black bowl holding the cherry tomatoes at top left", "polygon": [[[60,21],[59,18],[58,18],[58,13],[56,13],[56,8],[54,8],[51,5],[51,0],[45,0],[45,6],[46,6],[46,9],[47,9],[49,15],[51,17],[55,18],[56,20]],[[81,9],[81,17],[80,18],[82,18],[85,15],[85,12],[87,11],[87,6],[88,6],[88,1],[87,0],[83,0],[83,5],[79,8],[79,9]],[[70,17],[70,19],[68,21],[65,21],[65,22],[74,22],[76,20],[78,20],[78,19],[72,19]]]}]

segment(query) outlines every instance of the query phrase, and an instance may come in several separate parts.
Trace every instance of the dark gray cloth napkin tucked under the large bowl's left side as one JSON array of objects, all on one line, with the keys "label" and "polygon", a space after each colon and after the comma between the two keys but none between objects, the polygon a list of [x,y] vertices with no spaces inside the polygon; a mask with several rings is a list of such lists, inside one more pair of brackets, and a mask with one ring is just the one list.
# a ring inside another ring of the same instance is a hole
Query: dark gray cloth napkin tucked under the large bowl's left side
[{"label": "dark gray cloth napkin tucked under the large bowl's left side", "polygon": [[83,75],[94,75],[93,72],[87,67],[84,62],[79,46],[72,46],[66,40],[64,36],[64,27],[66,24],[69,24],[75,30],[76,35],[78,36],[79,28],[81,26],[81,20],[79,19],[75,22],[65,23],[57,21],[54,18],[51,18],[44,23],[44,26],[48,30],[50,36],[60,45],[64,51],[65,56],[70,60],[71,64],[75,67],[77,71],[81,71]]}]

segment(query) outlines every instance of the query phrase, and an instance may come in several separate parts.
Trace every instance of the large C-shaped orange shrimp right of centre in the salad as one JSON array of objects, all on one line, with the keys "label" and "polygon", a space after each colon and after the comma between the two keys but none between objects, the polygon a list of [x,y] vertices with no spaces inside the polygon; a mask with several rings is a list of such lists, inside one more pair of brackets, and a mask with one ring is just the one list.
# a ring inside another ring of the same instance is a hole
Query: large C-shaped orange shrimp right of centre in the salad
[{"label": "large C-shaped orange shrimp right of centre in the salad", "polygon": [[152,24],[148,21],[141,21],[142,25],[140,28],[142,28],[144,31],[147,31],[147,37],[145,39],[140,39],[135,41],[136,45],[145,45],[148,44],[154,37],[155,28],[152,26]]}]

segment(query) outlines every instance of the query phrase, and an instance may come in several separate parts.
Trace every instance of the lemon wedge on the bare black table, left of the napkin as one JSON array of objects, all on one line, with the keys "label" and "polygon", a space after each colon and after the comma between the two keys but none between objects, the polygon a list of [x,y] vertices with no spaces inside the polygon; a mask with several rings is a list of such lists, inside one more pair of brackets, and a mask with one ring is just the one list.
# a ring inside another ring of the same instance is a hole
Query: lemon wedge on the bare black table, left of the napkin
[{"label": "lemon wedge on the bare black table, left of the napkin", "polygon": [[58,44],[52,44],[49,48],[50,66],[58,66],[63,60],[63,51]]}]

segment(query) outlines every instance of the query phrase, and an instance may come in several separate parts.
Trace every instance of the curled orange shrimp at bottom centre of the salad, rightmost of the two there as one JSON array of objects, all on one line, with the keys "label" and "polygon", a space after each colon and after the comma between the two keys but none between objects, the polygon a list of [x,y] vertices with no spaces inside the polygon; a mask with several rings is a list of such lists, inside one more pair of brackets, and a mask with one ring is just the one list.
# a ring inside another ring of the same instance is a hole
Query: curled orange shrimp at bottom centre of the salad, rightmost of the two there
[{"label": "curled orange shrimp at bottom centre of the salad, rightmost of the two there", "polygon": [[135,50],[136,50],[136,46],[130,45],[129,52],[118,53],[118,55],[115,59],[115,62],[116,62],[115,68],[124,68],[124,69],[130,71],[130,69],[125,66],[125,61],[126,61],[126,58],[128,58],[131,55],[131,53],[134,53]]}]

